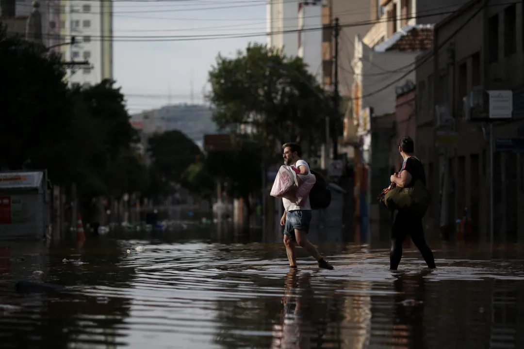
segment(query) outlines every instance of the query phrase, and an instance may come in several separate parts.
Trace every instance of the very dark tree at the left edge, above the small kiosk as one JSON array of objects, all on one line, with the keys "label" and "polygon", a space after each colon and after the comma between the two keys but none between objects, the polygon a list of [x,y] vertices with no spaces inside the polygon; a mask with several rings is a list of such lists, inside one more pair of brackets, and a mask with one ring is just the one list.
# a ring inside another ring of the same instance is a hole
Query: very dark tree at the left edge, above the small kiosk
[{"label": "very dark tree at the left edge, above the small kiosk", "polygon": [[[71,104],[60,58],[45,47],[7,37],[0,23],[0,166],[48,168],[63,177],[60,140],[71,126]],[[62,178],[63,179],[63,178]]]}]

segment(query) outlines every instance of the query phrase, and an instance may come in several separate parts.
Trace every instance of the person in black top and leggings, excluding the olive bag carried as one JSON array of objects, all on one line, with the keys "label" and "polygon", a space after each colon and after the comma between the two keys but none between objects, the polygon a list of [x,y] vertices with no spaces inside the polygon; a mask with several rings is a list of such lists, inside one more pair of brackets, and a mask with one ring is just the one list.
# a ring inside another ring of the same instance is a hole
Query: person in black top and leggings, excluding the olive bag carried
[{"label": "person in black top and leggings, excluding the olive bag carried", "polygon": [[[400,168],[400,177],[397,174],[391,175],[391,183],[399,187],[409,188],[416,181],[421,181],[425,186],[424,166],[414,154],[414,143],[410,137],[402,137],[398,144],[398,151],[404,159]],[[393,213],[394,214],[394,213]],[[389,253],[389,265],[391,270],[397,270],[402,258],[402,243],[407,235],[411,236],[411,241],[417,246],[424,261],[430,268],[436,268],[433,252],[424,239],[424,229],[422,228],[422,218],[413,217],[408,212],[398,210],[397,217],[391,229],[391,251]]]}]

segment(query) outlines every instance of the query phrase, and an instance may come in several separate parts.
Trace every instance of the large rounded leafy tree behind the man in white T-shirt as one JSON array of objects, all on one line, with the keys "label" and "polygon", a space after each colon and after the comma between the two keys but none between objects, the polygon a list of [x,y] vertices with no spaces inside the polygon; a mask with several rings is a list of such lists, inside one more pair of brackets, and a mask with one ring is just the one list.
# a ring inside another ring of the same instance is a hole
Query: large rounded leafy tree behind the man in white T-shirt
[{"label": "large rounded leafy tree behind the man in white T-shirt", "polygon": [[277,144],[288,141],[312,151],[325,140],[325,116],[332,109],[300,58],[253,44],[235,58],[219,55],[209,81],[216,124],[232,130],[251,126],[265,153],[274,155]]}]

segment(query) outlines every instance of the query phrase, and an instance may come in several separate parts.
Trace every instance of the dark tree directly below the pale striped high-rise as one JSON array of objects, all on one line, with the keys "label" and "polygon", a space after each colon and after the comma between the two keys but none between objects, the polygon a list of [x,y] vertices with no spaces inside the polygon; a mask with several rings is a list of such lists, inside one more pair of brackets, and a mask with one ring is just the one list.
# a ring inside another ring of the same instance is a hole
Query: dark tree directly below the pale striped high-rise
[{"label": "dark tree directly below the pale striped high-rise", "polygon": [[85,211],[90,211],[95,197],[119,199],[125,193],[145,192],[149,185],[147,168],[132,149],[138,133],[129,123],[124,95],[114,85],[112,80],[103,80],[72,92],[77,105],[74,120],[79,130],[87,132],[82,133],[83,141],[71,140],[77,147],[85,147],[77,150],[84,160],[83,165],[77,164],[82,172],[74,176]]}]

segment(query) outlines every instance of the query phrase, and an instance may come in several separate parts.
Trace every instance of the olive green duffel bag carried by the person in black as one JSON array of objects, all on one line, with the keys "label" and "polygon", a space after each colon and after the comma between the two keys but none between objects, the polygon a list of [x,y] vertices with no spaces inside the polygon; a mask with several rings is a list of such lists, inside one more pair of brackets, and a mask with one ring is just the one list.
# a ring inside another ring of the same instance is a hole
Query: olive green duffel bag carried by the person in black
[{"label": "olive green duffel bag carried by the person in black", "polygon": [[430,202],[431,193],[420,181],[409,188],[392,188],[384,196],[384,204],[390,210],[408,211],[421,218],[428,211]]}]

